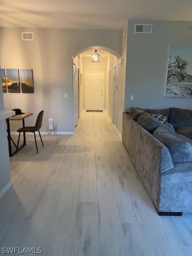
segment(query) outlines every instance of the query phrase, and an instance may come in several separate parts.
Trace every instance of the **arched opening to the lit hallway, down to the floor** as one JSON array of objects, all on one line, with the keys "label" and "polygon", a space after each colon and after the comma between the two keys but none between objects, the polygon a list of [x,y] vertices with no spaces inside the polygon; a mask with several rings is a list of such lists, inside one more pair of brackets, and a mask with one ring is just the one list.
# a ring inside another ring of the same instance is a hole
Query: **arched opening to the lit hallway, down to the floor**
[{"label": "arched opening to the lit hallway, down to the floor", "polygon": [[[101,55],[101,62],[91,62],[93,49],[97,49]],[[86,111],[105,112],[112,122],[115,122],[117,63],[117,56],[97,46],[73,58],[75,126],[78,124],[78,118],[81,118],[81,113]]]}]

